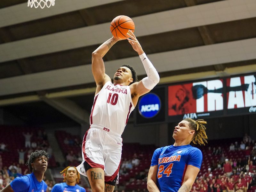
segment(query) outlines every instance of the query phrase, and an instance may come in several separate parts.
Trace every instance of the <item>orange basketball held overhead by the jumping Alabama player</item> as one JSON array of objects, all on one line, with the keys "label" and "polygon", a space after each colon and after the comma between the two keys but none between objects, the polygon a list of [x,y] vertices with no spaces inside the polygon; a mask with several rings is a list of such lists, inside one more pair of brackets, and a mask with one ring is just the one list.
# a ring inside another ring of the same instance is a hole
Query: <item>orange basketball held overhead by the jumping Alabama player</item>
[{"label": "orange basketball held overhead by the jumping Alabama player", "polygon": [[131,30],[134,32],[135,25],[131,18],[125,16],[125,15],[119,15],[116,18],[114,18],[110,24],[110,31],[113,34],[114,37],[117,37],[119,39],[127,39],[129,38],[126,33],[128,30]]}]

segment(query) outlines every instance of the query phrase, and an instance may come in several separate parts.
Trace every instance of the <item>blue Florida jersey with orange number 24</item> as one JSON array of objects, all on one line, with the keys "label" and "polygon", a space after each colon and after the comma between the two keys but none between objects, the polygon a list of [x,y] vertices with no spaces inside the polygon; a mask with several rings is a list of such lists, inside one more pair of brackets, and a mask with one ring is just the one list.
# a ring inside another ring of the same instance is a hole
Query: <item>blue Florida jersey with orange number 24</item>
[{"label": "blue Florida jersey with orange number 24", "polygon": [[202,152],[191,145],[171,145],[156,149],[151,166],[158,166],[157,187],[161,192],[177,192],[183,183],[187,166],[200,169],[202,160]]}]

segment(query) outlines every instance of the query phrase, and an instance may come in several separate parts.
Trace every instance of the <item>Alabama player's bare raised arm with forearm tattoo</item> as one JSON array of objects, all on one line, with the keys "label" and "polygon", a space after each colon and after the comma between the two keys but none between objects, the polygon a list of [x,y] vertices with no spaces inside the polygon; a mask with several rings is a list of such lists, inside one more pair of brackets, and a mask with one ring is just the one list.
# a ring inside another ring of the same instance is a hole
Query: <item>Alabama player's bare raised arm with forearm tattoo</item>
[{"label": "Alabama player's bare raised arm with forearm tattoo", "polygon": [[97,87],[98,85],[102,86],[107,81],[111,81],[109,76],[105,74],[105,66],[102,58],[118,40],[119,39],[112,37],[92,52],[92,74]]}]

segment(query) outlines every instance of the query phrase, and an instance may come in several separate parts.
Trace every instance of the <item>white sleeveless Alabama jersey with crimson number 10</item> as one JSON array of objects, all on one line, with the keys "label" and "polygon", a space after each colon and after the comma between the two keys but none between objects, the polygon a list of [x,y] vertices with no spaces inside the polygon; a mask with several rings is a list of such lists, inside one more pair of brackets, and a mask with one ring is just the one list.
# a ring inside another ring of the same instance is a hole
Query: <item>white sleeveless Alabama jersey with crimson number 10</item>
[{"label": "white sleeveless Alabama jersey with crimson number 10", "polygon": [[122,135],[133,109],[130,87],[106,82],[94,97],[90,126],[101,126],[107,132]]}]

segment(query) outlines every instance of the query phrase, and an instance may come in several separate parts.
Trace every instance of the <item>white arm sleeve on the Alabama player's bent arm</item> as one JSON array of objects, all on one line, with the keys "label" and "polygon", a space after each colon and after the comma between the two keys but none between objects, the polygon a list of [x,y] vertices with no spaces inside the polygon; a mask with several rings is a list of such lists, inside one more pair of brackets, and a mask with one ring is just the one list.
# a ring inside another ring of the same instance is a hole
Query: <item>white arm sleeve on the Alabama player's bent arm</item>
[{"label": "white arm sleeve on the Alabama player's bent arm", "polygon": [[153,64],[148,59],[147,55],[145,53],[142,53],[140,55],[140,60],[143,63],[143,66],[146,70],[147,77],[142,79],[142,83],[146,89],[153,89],[156,84],[159,82],[160,77],[156,71],[156,68],[153,66]]}]

